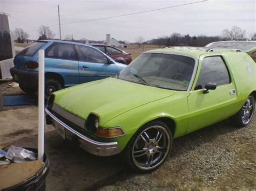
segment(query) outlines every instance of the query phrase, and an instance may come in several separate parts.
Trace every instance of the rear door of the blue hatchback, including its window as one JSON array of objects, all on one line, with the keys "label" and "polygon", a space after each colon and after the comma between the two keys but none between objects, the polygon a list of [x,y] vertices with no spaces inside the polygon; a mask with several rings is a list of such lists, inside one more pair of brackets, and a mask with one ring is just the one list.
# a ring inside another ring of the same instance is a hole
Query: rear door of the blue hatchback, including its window
[{"label": "rear door of the blue hatchback, including its window", "polygon": [[45,72],[57,73],[64,79],[65,87],[79,84],[78,58],[75,46],[53,43],[45,50]]}]

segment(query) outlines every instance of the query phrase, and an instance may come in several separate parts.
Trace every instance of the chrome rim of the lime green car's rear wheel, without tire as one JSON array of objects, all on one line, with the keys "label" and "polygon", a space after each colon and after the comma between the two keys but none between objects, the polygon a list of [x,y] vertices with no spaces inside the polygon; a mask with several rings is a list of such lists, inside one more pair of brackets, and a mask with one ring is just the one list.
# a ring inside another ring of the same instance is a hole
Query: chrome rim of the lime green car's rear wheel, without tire
[{"label": "chrome rim of the lime green car's rear wheel, without tire", "polygon": [[254,112],[254,99],[252,96],[248,97],[244,106],[242,107],[242,123],[247,125],[250,123]]}]

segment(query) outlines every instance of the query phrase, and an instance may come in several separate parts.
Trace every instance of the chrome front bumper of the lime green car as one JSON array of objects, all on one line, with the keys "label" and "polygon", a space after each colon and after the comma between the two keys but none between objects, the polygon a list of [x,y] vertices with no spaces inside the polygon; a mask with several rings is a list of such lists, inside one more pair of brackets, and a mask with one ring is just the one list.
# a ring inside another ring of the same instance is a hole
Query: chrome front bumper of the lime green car
[{"label": "chrome front bumper of the lime green car", "polygon": [[98,155],[98,156],[110,156],[110,155],[120,153],[117,142],[111,142],[111,143],[96,142],[95,140],[92,140],[84,136],[83,134],[77,132],[76,130],[73,130],[69,125],[60,121],[60,119],[58,119],[54,114],[52,114],[46,108],[45,108],[45,113],[46,115],[49,115],[52,118],[52,121],[62,126],[65,129],[65,131],[68,131],[68,133],[71,133],[72,136],[76,136],[78,138],[78,141],[80,142],[80,147],[82,147],[87,152]]}]

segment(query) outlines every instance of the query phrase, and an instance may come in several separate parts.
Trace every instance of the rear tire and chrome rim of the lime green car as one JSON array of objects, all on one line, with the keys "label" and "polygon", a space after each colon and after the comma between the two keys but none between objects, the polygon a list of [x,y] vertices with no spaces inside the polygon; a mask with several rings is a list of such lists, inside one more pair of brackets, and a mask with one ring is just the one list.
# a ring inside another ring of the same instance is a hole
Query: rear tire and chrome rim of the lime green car
[{"label": "rear tire and chrome rim of the lime green car", "polygon": [[255,110],[255,98],[253,95],[247,97],[242,108],[231,117],[231,123],[235,126],[244,127],[247,126],[253,118]]}]

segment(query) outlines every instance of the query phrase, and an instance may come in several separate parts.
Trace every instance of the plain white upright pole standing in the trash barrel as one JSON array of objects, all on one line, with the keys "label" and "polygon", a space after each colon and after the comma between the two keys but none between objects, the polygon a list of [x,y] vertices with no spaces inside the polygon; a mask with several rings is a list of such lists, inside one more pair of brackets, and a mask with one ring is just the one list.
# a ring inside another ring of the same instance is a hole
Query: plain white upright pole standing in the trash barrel
[{"label": "plain white upright pole standing in the trash barrel", "polygon": [[44,156],[44,49],[39,50],[38,71],[38,160]]}]

